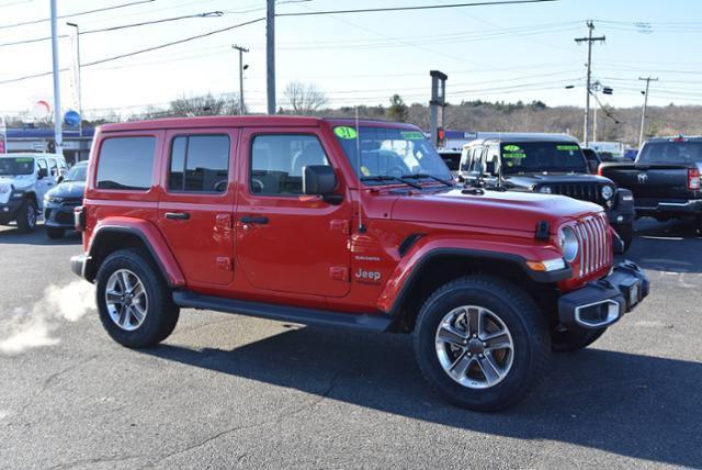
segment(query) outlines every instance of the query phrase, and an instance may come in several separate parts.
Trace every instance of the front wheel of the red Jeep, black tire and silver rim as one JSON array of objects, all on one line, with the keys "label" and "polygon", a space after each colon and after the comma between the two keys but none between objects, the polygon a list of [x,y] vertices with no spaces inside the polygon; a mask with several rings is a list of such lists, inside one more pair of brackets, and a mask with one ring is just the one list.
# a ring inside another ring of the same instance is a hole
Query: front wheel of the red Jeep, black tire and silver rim
[{"label": "front wheel of the red Jeep, black tire and silver rim", "polygon": [[422,306],[415,350],[424,378],[446,400],[496,411],[523,399],[544,373],[551,342],[534,301],[505,280],[465,277]]}]

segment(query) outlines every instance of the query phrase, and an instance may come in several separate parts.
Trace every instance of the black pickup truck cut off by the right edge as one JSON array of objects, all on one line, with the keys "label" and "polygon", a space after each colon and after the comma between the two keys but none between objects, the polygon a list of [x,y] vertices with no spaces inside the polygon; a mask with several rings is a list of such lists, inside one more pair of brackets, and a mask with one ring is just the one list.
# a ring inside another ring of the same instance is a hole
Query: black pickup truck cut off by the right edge
[{"label": "black pickup truck cut off by the right edge", "polygon": [[636,216],[687,219],[702,231],[702,137],[652,138],[633,164],[602,164],[599,174],[634,193]]}]

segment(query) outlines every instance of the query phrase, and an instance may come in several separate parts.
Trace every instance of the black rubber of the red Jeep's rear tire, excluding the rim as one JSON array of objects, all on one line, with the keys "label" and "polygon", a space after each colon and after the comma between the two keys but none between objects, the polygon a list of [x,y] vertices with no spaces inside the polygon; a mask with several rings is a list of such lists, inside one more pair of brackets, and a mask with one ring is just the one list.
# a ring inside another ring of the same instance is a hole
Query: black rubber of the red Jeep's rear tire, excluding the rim
[{"label": "black rubber of the red Jeep's rear tire, excluding the rim", "polygon": [[[144,284],[148,307],[143,323],[133,331],[124,329],[112,320],[105,299],[107,281],[118,270],[128,270]],[[140,249],[122,249],[109,255],[95,277],[97,303],[100,320],[107,334],[129,348],[155,346],[176,328],[180,309],[173,303],[171,289],[155,268],[151,258]]]}]

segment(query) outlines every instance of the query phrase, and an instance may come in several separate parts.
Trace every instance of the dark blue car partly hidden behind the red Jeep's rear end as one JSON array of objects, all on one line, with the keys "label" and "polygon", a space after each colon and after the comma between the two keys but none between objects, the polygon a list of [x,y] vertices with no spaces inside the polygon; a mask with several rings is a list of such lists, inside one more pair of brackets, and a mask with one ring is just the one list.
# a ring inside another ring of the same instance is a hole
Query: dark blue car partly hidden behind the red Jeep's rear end
[{"label": "dark blue car partly hidden behind the red Jeep's rear end", "polygon": [[82,204],[88,161],[73,165],[44,195],[44,225],[49,238],[61,238],[76,225],[73,209]]}]

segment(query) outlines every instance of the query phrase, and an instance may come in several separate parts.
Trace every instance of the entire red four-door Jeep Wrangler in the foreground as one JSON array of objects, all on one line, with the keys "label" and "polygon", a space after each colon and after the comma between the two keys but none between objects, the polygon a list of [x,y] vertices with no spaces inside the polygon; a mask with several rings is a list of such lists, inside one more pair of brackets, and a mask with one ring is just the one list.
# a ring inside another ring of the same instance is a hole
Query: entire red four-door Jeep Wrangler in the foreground
[{"label": "entire red four-door Jeep Wrangler in the foreground", "polygon": [[125,346],[166,339],[181,307],[414,332],[424,377],[474,410],[517,402],[552,348],[589,345],[648,293],[613,267],[602,208],[457,187],[408,124],[104,125],[76,224],[72,270]]}]

